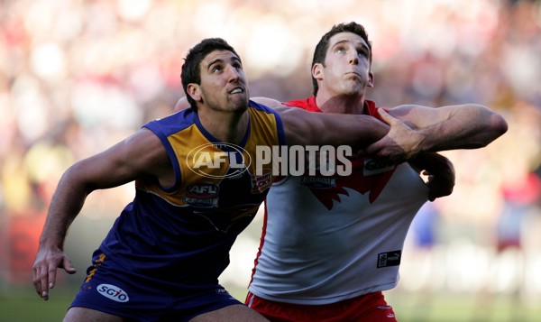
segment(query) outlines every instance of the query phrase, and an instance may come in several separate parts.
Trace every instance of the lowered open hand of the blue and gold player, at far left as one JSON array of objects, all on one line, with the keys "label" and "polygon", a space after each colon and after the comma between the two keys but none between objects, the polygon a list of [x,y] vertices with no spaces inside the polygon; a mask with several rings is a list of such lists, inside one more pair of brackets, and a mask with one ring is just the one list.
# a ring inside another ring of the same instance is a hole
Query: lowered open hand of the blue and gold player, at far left
[{"label": "lowered open hand of the blue and gold player, at far left", "polygon": [[49,289],[54,288],[56,282],[57,268],[63,268],[69,274],[76,272],[63,251],[40,247],[33,264],[33,284],[42,299],[49,299]]}]

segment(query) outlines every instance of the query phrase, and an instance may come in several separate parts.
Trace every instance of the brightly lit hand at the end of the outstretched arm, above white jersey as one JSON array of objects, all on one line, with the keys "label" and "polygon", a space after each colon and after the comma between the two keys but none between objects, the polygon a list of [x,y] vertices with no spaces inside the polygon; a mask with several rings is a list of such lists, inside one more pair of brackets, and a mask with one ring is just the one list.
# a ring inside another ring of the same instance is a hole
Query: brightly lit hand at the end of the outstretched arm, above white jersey
[{"label": "brightly lit hand at the end of the outstretched arm, above white jersey", "polygon": [[389,115],[383,108],[379,108],[378,112],[381,119],[390,125],[389,133],[364,149],[363,155],[396,164],[415,158],[420,152],[419,144],[423,139],[422,134],[411,129],[398,118]]}]

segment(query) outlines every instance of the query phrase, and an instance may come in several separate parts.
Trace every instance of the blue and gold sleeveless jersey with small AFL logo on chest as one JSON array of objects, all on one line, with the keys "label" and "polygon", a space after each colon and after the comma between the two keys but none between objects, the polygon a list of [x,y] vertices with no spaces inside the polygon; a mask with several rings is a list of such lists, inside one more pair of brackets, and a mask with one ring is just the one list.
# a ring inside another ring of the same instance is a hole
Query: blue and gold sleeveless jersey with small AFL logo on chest
[{"label": "blue and gold sleeveless jersey with small AFL logo on chest", "polygon": [[157,281],[197,288],[217,282],[236,236],[271,187],[271,170],[256,171],[257,146],[285,144],[275,111],[250,101],[248,113],[239,145],[218,142],[191,109],[144,125],[165,146],[175,184],[135,182],[133,202],[100,246],[109,260]]}]

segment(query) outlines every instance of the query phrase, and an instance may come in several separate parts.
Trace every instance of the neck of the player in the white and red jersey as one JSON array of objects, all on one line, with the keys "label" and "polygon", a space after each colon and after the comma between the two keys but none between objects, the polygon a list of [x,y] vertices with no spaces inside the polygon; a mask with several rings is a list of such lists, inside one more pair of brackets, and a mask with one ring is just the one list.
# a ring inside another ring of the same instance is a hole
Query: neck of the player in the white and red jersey
[{"label": "neck of the player in the white and red jersey", "polygon": [[335,95],[331,96],[321,89],[316,95],[316,104],[325,113],[362,114],[364,110],[364,95]]}]

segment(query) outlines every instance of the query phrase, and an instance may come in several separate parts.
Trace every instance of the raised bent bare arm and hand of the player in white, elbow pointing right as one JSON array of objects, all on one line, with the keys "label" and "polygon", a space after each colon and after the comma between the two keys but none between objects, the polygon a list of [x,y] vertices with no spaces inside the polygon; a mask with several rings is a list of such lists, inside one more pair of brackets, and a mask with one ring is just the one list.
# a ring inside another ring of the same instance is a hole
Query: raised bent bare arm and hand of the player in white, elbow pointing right
[{"label": "raised bent bare arm and hand of the player in white, elbow pointing right", "polygon": [[481,148],[508,130],[508,124],[500,114],[476,104],[436,108],[397,106],[390,109],[389,115],[382,110],[380,113],[386,122],[392,122],[392,117],[398,118],[422,137],[420,141],[418,138],[411,140],[412,137],[400,136],[391,130],[367,149],[368,153],[391,160],[403,150],[417,155],[419,152]]}]

